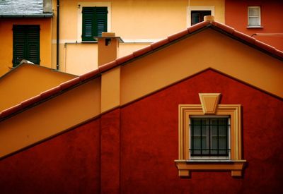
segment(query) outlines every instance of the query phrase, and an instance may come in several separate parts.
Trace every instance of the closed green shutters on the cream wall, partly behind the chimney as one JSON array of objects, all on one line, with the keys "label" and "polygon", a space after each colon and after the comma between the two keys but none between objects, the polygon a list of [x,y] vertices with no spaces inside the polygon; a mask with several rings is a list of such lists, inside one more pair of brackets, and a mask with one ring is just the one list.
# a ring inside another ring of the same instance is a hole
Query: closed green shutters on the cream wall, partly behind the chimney
[{"label": "closed green shutters on the cream wall, partly behind the chimney", "polygon": [[83,41],[94,41],[93,37],[107,32],[107,7],[83,7]]}]

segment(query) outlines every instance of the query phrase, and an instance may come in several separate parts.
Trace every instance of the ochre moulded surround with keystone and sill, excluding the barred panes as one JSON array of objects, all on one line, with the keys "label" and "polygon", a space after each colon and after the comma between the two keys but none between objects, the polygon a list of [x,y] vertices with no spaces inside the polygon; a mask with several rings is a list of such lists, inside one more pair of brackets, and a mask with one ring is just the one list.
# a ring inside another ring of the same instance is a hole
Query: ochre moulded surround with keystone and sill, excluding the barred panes
[{"label": "ochre moulded surround with keystone and sill, excluding the barred panes", "polygon": [[[246,160],[242,159],[241,105],[218,104],[220,93],[200,93],[202,104],[179,104],[179,157],[175,159],[178,175],[190,177],[191,171],[231,171],[231,176],[241,177]],[[194,159],[190,156],[190,117],[229,116],[229,159]]]}]

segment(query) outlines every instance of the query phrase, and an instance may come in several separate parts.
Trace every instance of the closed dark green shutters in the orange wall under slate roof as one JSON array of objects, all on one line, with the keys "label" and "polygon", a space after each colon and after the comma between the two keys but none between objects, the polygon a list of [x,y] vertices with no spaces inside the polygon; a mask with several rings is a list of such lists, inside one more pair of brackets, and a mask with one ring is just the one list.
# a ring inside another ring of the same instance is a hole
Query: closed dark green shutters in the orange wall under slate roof
[{"label": "closed dark green shutters in the orange wall under slate roof", "polygon": [[13,25],[13,66],[22,59],[40,63],[40,25]]}]

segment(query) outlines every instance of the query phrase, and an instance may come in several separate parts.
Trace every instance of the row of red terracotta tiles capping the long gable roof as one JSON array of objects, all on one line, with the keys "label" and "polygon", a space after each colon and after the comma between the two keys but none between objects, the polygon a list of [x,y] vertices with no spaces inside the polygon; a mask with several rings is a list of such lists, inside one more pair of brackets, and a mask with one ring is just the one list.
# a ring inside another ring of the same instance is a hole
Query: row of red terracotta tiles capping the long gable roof
[{"label": "row of red terracotta tiles capping the long gable roof", "polygon": [[175,33],[174,35],[170,35],[167,38],[160,40],[158,42],[154,42],[152,44],[150,44],[149,46],[146,46],[142,49],[139,49],[137,51],[134,51],[132,54],[129,54],[127,56],[122,56],[114,61],[111,61],[110,63],[106,63],[103,66],[99,66],[98,70],[94,70],[88,73],[85,73],[83,75],[80,75],[77,78],[74,78],[72,80],[68,80],[65,83],[60,84],[57,87],[54,87],[50,90],[47,90],[45,92],[42,92],[41,95],[37,95],[35,97],[32,97],[30,99],[27,99],[23,102],[21,102],[21,104],[18,104],[14,107],[11,107],[9,109],[6,109],[4,111],[2,111],[0,113],[0,118],[3,118],[5,116],[8,116],[9,114],[12,114],[16,111],[19,111],[21,109],[23,109],[24,107],[28,107],[31,104],[34,104],[36,102],[39,102],[40,100],[46,98],[46,97],[50,97],[51,95],[56,94],[57,92],[60,92],[62,90],[66,90],[71,86],[74,86],[78,83],[81,82],[81,80],[86,80],[88,78],[94,77],[96,75],[99,75],[100,73],[103,73],[105,71],[108,71],[110,68],[113,68],[115,66],[119,66],[122,63],[125,63],[131,59],[134,59],[138,56],[141,56],[143,54],[147,54],[151,51],[153,51],[154,49],[157,49],[158,47],[161,47],[163,45],[166,45],[170,42],[173,42],[174,40],[178,40],[180,37],[183,37],[189,33],[195,32],[197,30],[200,30],[201,28],[204,27],[210,27],[210,26],[215,26],[216,28],[219,28],[220,30],[224,30],[225,32],[238,37],[241,40],[244,40],[246,42],[249,42],[250,44],[254,44],[257,47],[260,47],[261,49],[264,49],[265,51],[270,52],[270,54],[279,57],[280,59],[283,59],[283,51],[279,51],[277,49],[275,49],[274,47],[265,44],[263,42],[260,42],[258,40],[255,40],[255,38],[250,37],[246,34],[243,34],[242,32],[239,32],[237,30],[234,30],[233,28],[229,27],[228,25],[224,25],[223,23],[218,23],[218,22],[214,22],[214,21],[204,21],[202,23],[198,23],[196,25],[192,25],[190,28],[187,28],[185,30],[182,30],[180,32]]}]

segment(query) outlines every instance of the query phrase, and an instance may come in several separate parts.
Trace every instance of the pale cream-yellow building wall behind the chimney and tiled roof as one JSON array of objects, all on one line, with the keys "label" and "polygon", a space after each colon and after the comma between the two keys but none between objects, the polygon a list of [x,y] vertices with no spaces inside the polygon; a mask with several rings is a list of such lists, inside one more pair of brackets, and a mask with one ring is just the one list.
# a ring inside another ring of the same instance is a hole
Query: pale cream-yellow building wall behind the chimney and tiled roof
[{"label": "pale cream-yellow building wall behind the chimney and tiled roof", "polygon": [[[118,56],[124,56],[187,28],[188,6],[214,6],[216,20],[224,22],[224,0],[115,0],[60,1],[60,70],[80,75],[98,66],[97,45],[81,42],[81,7],[109,6],[108,30],[125,40]],[[79,6],[81,5],[81,6]],[[52,67],[56,68],[56,1],[53,1]],[[64,44],[67,42],[67,47]],[[79,62],[79,66],[78,66]]]}]

